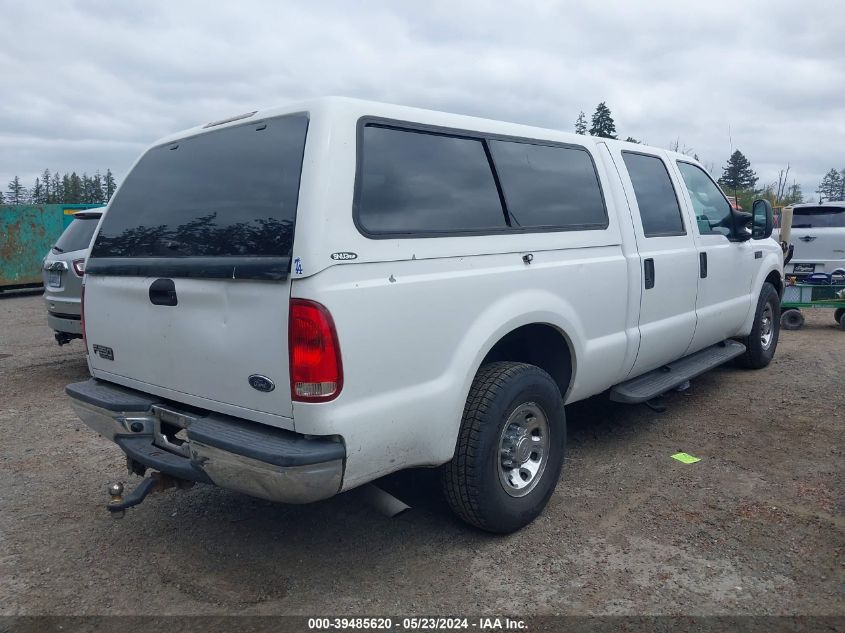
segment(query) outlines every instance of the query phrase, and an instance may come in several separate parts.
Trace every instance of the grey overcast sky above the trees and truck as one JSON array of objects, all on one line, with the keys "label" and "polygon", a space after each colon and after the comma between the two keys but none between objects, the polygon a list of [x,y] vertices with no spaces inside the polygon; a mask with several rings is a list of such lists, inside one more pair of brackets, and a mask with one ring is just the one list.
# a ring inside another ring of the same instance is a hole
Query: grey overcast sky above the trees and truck
[{"label": "grey overcast sky above the trees and truck", "polygon": [[[156,138],[346,95],[620,138],[680,139],[717,175],[845,168],[838,1],[0,0],[0,184],[45,167],[122,179]],[[730,130],[730,137],[729,137]]]}]

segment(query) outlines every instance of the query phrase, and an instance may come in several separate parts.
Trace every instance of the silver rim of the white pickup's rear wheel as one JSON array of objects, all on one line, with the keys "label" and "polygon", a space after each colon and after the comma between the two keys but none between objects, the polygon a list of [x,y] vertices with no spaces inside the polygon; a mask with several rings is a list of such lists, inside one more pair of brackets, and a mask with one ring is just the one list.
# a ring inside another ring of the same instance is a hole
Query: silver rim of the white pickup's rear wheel
[{"label": "silver rim of the white pickup's rear wheel", "polygon": [[514,409],[499,437],[499,483],[511,497],[534,490],[549,461],[549,420],[534,402]]}]

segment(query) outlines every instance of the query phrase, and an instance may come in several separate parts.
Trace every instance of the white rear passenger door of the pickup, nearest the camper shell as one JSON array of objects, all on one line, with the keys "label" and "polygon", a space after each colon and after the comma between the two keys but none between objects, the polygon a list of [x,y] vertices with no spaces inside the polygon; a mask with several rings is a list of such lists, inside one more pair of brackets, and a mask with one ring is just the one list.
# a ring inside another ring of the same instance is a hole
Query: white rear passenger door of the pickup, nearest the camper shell
[{"label": "white rear passenger door of the pickup, nearest the camper shell", "polygon": [[684,355],[695,332],[698,256],[665,158],[611,150],[628,198],[641,266],[640,345],[630,376]]}]

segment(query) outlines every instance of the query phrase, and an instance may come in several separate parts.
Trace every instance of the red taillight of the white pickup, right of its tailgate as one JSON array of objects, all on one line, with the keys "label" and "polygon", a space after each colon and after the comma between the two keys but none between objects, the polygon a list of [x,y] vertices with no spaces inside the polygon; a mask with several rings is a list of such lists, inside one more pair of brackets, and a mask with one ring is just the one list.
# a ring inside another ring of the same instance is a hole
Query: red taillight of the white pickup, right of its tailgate
[{"label": "red taillight of the white pickup, right of its tailgate", "polygon": [[343,387],[334,321],[325,306],[291,299],[288,322],[290,394],[298,402],[325,402]]}]

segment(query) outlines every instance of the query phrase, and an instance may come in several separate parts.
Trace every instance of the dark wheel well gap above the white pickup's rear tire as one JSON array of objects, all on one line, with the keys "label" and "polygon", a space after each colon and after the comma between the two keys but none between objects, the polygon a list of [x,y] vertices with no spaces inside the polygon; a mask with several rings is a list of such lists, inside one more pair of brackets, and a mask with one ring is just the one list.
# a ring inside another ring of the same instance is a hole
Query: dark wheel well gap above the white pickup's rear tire
[{"label": "dark wheel well gap above the white pickup's rear tire", "polygon": [[572,381],[572,352],[557,328],[545,323],[523,325],[496,343],[481,364],[502,360],[536,365],[552,377],[560,395],[566,397]]}]

